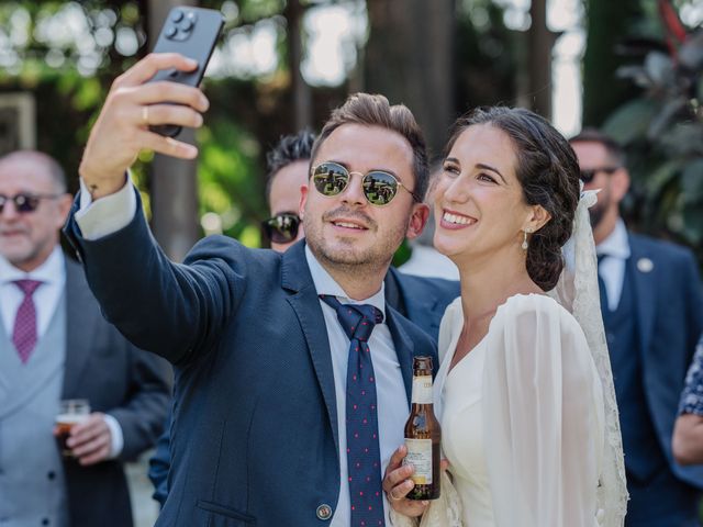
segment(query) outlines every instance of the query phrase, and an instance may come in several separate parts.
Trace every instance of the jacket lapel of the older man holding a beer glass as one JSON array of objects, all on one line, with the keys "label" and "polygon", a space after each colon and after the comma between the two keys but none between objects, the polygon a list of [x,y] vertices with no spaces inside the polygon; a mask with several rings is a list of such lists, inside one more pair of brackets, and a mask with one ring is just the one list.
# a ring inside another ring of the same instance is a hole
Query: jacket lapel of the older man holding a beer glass
[{"label": "jacket lapel of the older man holding a beer glass", "polygon": [[66,258],[66,366],[63,396],[79,394],[80,377],[90,358],[100,310],[90,293],[83,269]]}]

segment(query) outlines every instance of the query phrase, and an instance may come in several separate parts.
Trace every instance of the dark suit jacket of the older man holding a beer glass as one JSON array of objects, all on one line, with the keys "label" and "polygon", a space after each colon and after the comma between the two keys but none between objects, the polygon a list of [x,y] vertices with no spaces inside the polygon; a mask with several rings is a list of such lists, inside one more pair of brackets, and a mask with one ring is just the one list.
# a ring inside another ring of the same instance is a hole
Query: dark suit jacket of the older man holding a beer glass
[{"label": "dark suit jacket of the older man holding a beer glass", "polygon": [[124,435],[120,459],[92,467],[65,460],[71,527],[130,527],[132,509],[122,469],[156,441],[170,400],[166,367],[135,348],[100,313],[82,268],[66,260],[67,346],[63,399],[88,399]]}]

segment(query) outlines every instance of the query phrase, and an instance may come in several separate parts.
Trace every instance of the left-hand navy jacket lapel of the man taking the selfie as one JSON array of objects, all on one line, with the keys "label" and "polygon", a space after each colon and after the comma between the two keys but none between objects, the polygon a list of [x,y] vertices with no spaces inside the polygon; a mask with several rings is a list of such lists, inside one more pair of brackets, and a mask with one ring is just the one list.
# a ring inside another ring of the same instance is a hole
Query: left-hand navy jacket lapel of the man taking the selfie
[{"label": "left-hand navy jacket lapel of the man taking the selfie", "polygon": [[332,368],[332,352],[330,337],[324,323],[324,315],[317,299],[317,292],[305,260],[304,242],[297,244],[283,254],[281,265],[281,284],[295,294],[288,296],[300,327],[303,330],[308,351],[312,360],[320,390],[327,408],[334,444],[339,445],[337,427],[337,404],[334,388],[334,370]]}]

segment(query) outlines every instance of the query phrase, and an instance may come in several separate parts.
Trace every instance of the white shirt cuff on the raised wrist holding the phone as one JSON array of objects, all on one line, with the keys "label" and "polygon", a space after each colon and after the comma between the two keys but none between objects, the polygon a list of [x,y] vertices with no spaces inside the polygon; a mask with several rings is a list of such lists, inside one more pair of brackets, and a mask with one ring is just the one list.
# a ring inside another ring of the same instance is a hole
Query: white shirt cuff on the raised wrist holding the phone
[{"label": "white shirt cuff on the raised wrist holding the phone", "polygon": [[126,227],[135,214],[136,197],[129,171],[124,187],[96,201],[80,178],[80,208],[75,217],[85,239],[96,240],[116,233]]}]

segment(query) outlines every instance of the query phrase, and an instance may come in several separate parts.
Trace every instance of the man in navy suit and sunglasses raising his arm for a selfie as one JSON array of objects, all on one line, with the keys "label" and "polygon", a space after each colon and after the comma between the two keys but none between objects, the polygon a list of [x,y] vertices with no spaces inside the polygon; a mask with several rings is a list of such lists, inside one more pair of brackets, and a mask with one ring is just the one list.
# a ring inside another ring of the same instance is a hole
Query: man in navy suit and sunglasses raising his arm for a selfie
[{"label": "man in navy suit and sunglasses raising his arm for a selfie", "polygon": [[115,80],[67,225],[105,316],[175,366],[157,525],[384,526],[381,475],[403,440],[412,359],[436,359],[382,288],[401,242],[427,218],[422,133],[406,108],[350,97],[313,147],[303,242],[278,254],[213,236],[172,264],[125,173],[143,147],[196,157],[149,125],[200,126],[204,96],[146,83],[196,67],[149,55]]}]

